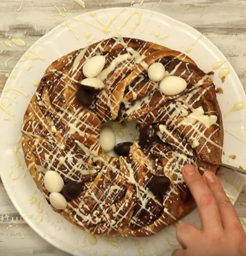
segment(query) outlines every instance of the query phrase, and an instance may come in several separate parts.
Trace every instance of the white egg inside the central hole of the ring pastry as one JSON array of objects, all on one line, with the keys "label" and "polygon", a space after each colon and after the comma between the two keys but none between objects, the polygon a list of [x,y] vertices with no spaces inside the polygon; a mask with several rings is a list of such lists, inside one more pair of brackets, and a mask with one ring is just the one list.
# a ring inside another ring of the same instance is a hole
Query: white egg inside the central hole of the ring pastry
[{"label": "white egg inside the central hole of the ring pastry", "polygon": [[110,152],[115,147],[115,133],[110,127],[103,127],[100,132],[99,144],[105,152]]}]

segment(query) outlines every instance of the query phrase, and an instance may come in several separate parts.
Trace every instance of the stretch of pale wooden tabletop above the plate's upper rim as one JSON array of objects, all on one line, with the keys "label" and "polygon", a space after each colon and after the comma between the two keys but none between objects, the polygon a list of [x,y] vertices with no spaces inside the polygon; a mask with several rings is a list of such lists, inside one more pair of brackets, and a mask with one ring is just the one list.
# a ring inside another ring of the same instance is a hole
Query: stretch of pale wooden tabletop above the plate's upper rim
[{"label": "stretch of pale wooden tabletop above the plate's upper rim", "polygon": [[[56,25],[66,19],[70,19],[82,12],[99,9],[102,7],[132,6],[139,7],[139,3],[144,2],[140,7],[159,11],[164,14],[185,22],[211,40],[228,60],[232,63],[242,85],[246,88],[246,67],[245,57],[246,39],[245,10],[246,1],[85,1],[86,9],[82,8],[74,1],[24,1],[22,9],[18,12],[21,1],[2,1],[0,6],[1,17],[4,23],[0,23],[0,58],[7,62],[0,62],[0,81],[2,75],[9,74],[22,53],[30,45],[37,41],[42,35],[50,31]],[[63,13],[59,16],[59,11]],[[100,3],[100,4],[99,4]],[[35,11],[33,11],[33,8]],[[66,11],[64,11],[64,9]],[[13,12],[15,16],[13,17]],[[37,14],[38,13],[38,19]],[[229,13],[229,16],[228,16]],[[9,15],[8,15],[9,14]],[[56,16],[58,15],[58,16]],[[11,37],[24,37],[27,47],[6,47],[4,42]],[[2,85],[2,83],[1,83]]]}]

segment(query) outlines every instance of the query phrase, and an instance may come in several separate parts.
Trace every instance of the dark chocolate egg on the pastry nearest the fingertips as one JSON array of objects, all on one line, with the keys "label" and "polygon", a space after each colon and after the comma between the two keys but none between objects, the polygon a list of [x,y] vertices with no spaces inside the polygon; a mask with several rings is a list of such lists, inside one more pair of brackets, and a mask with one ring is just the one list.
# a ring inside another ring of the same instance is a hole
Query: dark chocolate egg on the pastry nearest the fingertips
[{"label": "dark chocolate egg on the pastry nearest the fingertips", "polygon": [[163,196],[169,189],[169,186],[170,180],[167,176],[153,176],[147,184],[147,188],[149,188],[155,196]]}]

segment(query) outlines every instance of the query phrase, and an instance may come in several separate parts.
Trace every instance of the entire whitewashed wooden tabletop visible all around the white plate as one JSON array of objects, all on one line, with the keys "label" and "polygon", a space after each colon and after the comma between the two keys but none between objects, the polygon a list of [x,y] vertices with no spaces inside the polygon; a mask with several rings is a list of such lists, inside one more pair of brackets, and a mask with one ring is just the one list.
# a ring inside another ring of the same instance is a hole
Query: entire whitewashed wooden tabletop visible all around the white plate
[{"label": "entire whitewashed wooden tabletop visible all around the white plate", "polygon": [[[46,32],[83,12],[120,6],[159,11],[195,27],[224,53],[246,90],[245,0],[1,0],[0,94],[19,58]],[[22,40],[14,43],[11,40],[14,38]],[[25,223],[12,205],[1,180],[0,201],[0,255],[68,255],[48,244]],[[235,203],[246,230],[245,202],[246,186]]]}]

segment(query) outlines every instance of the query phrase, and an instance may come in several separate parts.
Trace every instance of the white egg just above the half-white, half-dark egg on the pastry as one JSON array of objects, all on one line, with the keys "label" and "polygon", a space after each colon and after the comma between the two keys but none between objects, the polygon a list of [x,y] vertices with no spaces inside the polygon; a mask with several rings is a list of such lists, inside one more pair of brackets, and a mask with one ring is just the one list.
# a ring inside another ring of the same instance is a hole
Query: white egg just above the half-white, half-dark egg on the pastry
[{"label": "white egg just above the half-white, half-dark egg on the pastry", "polygon": [[99,75],[103,70],[105,61],[106,59],[103,55],[96,55],[87,59],[84,63],[84,66],[82,67],[84,76],[87,78],[92,78]]}]

